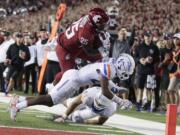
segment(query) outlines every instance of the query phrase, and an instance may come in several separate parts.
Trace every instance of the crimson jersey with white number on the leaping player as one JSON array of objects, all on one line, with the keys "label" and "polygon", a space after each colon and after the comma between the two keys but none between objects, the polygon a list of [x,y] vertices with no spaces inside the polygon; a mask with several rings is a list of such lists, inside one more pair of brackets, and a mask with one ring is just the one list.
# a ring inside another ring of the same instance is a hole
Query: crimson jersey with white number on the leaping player
[{"label": "crimson jersey with white number on the leaping player", "polygon": [[98,32],[90,22],[88,15],[81,17],[67,28],[58,37],[58,44],[76,56],[83,51],[82,46],[89,45],[94,49],[102,46]]}]

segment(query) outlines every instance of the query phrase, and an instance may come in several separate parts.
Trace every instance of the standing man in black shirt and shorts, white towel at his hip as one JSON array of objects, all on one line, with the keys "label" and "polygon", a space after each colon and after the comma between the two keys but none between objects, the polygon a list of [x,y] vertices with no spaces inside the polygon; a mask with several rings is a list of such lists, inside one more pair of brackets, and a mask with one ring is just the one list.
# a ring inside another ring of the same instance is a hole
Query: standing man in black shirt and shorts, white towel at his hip
[{"label": "standing man in black shirt and shorts, white towel at his hip", "polygon": [[155,66],[159,61],[159,50],[152,42],[150,31],[144,33],[144,42],[136,48],[135,61],[137,63],[137,111],[141,111],[145,87],[147,89],[147,103],[144,105],[144,109],[150,111],[153,90],[156,88]]}]

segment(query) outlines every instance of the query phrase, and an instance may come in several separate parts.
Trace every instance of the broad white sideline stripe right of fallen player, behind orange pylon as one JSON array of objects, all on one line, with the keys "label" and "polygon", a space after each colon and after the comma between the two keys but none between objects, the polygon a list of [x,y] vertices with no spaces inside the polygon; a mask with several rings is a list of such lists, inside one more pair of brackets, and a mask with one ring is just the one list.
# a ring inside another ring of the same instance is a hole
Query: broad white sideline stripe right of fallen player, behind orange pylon
[{"label": "broad white sideline stripe right of fallen player, behind orange pylon", "polygon": [[[144,135],[164,135],[165,124],[159,122],[153,122],[149,120],[143,120],[123,115],[115,114],[105,125],[141,133]],[[176,134],[180,135],[180,126],[176,127]]]}]

